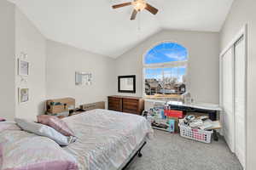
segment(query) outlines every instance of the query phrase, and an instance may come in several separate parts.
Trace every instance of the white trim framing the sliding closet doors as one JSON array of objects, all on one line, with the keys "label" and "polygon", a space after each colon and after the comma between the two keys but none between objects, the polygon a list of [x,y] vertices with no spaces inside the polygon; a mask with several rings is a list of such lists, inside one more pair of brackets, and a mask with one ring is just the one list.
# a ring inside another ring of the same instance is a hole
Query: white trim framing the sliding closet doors
[{"label": "white trim framing the sliding closet doors", "polygon": [[[234,65],[233,69],[235,69],[235,45],[236,42],[238,42],[241,37],[244,38],[245,44],[244,44],[244,48],[245,48],[245,165],[244,165],[244,169],[247,169],[247,24],[245,26],[243,26],[241,28],[241,31],[239,31],[236,36],[232,39],[232,41],[228,44],[228,46],[226,48],[224,48],[224,50],[221,52],[221,54],[219,55],[219,104],[222,107],[223,106],[223,63],[222,63],[222,59],[224,57],[224,55],[230,50],[230,48],[232,48],[232,53],[233,53],[233,59],[232,59],[232,65]],[[234,148],[231,149],[232,151],[236,151],[236,117],[235,117],[235,70],[233,71],[233,82],[234,82],[234,89],[233,89],[233,111],[234,111]],[[221,119],[223,122],[223,114],[221,114]]]}]

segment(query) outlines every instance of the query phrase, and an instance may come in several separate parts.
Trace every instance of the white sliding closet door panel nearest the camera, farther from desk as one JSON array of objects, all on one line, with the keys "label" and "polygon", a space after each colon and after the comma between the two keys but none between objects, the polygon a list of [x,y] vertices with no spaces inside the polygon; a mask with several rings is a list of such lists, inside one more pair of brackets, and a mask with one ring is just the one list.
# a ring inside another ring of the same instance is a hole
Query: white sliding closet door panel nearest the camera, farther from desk
[{"label": "white sliding closet door panel nearest the camera, farther from desk", "polygon": [[244,38],[235,44],[235,153],[245,166],[246,54]]}]

